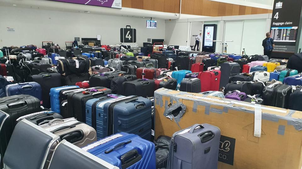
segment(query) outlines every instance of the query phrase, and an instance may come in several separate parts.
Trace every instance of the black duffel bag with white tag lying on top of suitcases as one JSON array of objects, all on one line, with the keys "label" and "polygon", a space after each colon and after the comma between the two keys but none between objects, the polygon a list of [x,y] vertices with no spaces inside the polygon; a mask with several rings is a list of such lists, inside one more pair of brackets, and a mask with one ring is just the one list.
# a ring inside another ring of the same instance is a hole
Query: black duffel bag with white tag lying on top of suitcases
[{"label": "black duffel bag with white tag lying on top of suitcases", "polygon": [[84,55],[79,55],[75,58],[59,59],[57,64],[58,72],[65,76],[87,73],[89,67],[90,60]]}]

